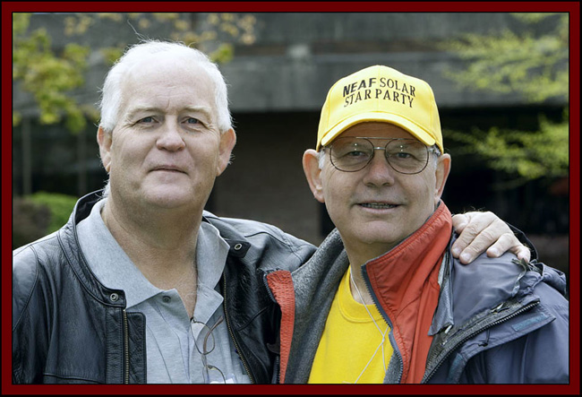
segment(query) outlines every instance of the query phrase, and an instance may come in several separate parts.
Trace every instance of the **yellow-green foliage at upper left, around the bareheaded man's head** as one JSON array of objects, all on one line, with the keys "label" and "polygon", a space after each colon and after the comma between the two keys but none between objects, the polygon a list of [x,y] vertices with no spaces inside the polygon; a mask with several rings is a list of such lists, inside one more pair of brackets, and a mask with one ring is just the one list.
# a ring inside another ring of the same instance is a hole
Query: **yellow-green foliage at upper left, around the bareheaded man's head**
[{"label": "yellow-green foliage at upper left, around the bareheaded man's head", "polygon": [[[194,18],[201,15],[201,18]],[[63,34],[71,43],[56,53],[47,30],[30,30],[30,13],[13,13],[13,80],[23,91],[30,92],[39,108],[42,124],[64,125],[72,133],[83,130],[87,121],[96,122],[98,111],[83,105],[73,92],[85,84],[85,73],[91,50],[98,51],[107,65],[113,65],[128,43],[113,47],[90,48],[75,39],[91,34],[97,22],[118,24],[129,22],[138,38],[156,33],[160,24],[171,27],[169,39],[198,47],[218,63],[229,62],[237,42],[254,42],[254,17],[238,13],[72,13],[63,16]],[[138,31],[140,33],[138,33]],[[51,34],[57,34],[53,31]],[[21,122],[20,109],[13,109],[13,125]]]}]

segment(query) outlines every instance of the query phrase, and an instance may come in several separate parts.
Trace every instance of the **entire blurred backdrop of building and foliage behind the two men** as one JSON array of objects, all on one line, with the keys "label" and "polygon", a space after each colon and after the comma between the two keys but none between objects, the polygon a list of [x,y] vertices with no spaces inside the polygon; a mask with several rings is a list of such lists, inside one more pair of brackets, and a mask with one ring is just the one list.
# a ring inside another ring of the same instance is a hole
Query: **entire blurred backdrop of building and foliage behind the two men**
[{"label": "entire blurred backdrop of building and foliage behind the two men", "polygon": [[13,248],[104,186],[98,90],[140,39],[192,44],[227,79],[238,142],[209,211],[319,244],[332,225],[301,159],[321,105],[339,78],[389,65],[435,93],[449,209],[495,212],[568,273],[568,13],[13,13]]}]

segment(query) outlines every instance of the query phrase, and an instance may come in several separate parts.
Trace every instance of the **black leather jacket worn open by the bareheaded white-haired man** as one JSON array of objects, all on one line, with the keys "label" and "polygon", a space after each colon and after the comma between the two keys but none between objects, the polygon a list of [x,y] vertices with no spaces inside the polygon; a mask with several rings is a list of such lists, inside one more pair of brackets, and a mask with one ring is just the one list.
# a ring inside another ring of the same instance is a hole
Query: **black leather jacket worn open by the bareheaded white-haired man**
[{"label": "black leather jacket worn open by the bareheaded white-haired man", "polygon": [[[145,317],[127,313],[85,262],[76,225],[100,192],[76,204],[62,229],[13,252],[13,383],[146,383]],[[230,246],[221,282],[228,330],[253,383],[278,375],[280,312],[264,277],[295,270],[315,247],[267,224],[205,211]]]}]

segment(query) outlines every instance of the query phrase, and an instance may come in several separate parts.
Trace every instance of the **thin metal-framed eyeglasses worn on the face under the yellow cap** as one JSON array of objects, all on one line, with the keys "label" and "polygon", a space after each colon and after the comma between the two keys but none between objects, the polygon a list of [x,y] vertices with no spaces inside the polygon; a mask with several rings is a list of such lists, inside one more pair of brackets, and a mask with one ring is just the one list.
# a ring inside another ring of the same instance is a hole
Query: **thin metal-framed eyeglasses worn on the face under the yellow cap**
[{"label": "thin metal-framed eyeglasses worn on the face under the yellow cap", "polygon": [[388,138],[384,146],[374,146],[371,140],[386,141],[387,138],[347,136],[336,138],[329,146],[331,164],[344,172],[355,172],[366,168],[375,151],[384,151],[388,164],[401,174],[418,174],[426,168],[429,153],[434,151],[423,142],[407,138]]}]

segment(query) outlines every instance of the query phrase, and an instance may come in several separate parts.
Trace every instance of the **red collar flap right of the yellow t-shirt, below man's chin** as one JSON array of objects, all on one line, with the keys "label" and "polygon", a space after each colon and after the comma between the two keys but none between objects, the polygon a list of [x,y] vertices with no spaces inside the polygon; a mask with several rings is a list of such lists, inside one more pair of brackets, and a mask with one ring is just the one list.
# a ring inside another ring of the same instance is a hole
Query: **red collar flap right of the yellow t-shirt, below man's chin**
[{"label": "red collar flap right of the yellow t-shirt, below man's chin", "polygon": [[416,383],[424,375],[432,342],[428,331],[439,302],[439,269],[451,229],[449,209],[440,203],[420,229],[363,266],[372,298],[391,328],[390,382]]}]

